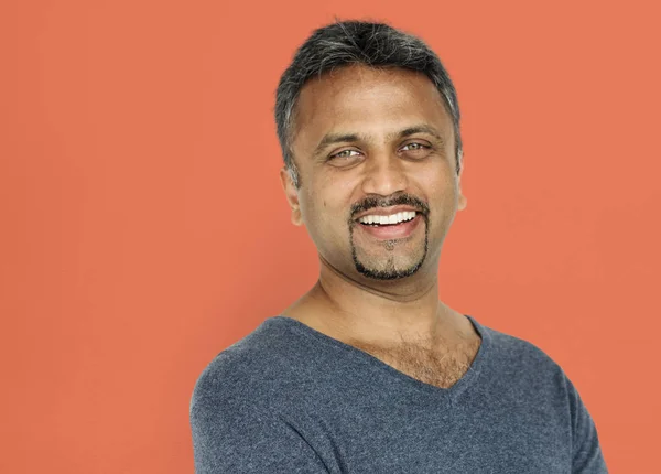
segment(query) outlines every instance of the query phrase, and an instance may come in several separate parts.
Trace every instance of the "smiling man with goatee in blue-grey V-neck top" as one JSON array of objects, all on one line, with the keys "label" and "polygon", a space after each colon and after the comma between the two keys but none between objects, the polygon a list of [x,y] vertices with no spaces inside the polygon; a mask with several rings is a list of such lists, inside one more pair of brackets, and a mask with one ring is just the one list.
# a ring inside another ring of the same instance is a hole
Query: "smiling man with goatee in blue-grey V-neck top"
[{"label": "smiling man with goatee in blue-grey V-neck top", "polygon": [[275,120],[319,279],[201,375],[196,472],[607,472],[561,367],[438,300],[466,197],[437,56],[384,24],[322,28],[284,72]]}]

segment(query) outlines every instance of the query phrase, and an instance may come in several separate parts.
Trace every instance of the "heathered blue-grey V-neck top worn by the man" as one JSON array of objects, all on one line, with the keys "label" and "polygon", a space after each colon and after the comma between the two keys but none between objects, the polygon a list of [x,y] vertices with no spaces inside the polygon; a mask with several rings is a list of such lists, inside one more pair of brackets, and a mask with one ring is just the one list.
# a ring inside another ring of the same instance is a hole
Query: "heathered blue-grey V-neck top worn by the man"
[{"label": "heathered blue-grey V-neck top worn by the man", "polygon": [[266,320],[197,380],[196,473],[607,473],[562,368],[467,317],[481,345],[448,389],[296,320]]}]

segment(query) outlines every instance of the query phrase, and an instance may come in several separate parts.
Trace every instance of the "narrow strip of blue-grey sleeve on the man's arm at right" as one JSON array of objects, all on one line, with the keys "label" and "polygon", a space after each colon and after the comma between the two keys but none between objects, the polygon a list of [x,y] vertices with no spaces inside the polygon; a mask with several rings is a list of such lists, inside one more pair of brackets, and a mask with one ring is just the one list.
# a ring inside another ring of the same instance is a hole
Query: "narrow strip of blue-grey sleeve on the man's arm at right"
[{"label": "narrow strip of blue-grey sleeve on the man's arm at right", "polygon": [[572,474],[607,474],[595,423],[578,391],[566,380],[572,414]]}]

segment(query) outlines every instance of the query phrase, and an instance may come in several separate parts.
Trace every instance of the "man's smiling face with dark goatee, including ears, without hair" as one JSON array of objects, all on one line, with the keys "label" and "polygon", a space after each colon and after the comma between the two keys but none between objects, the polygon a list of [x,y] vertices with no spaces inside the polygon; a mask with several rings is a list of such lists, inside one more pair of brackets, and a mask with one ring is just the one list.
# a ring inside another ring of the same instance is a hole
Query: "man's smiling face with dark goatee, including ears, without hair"
[{"label": "man's smiling face with dark goatee, including ears, without hair", "polygon": [[422,74],[350,66],[310,80],[296,106],[292,151],[301,187],[281,179],[294,224],[305,224],[334,269],[378,280],[437,270],[466,200],[454,132]]}]

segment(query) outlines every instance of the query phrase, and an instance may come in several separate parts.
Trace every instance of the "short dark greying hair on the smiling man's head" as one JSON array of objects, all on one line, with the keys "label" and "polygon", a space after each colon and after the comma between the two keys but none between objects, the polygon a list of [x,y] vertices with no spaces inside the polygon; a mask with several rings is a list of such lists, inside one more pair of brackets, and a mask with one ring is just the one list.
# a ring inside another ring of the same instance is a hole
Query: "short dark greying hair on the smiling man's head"
[{"label": "short dark greying hair on the smiling man's head", "polygon": [[291,149],[296,100],[305,83],[338,67],[362,64],[369,67],[400,67],[425,74],[441,93],[452,117],[457,174],[463,149],[459,105],[449,75],[441,60],[422,40],[384,23],[339,21],[318,30],[299,47],[275,93],[275,125],[285,168],[296,187],[301,180]]}]

